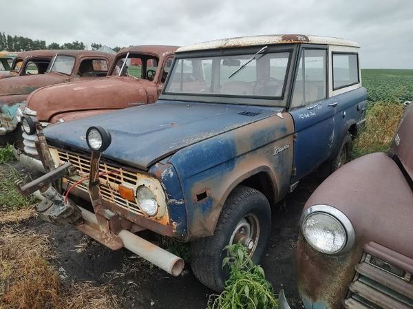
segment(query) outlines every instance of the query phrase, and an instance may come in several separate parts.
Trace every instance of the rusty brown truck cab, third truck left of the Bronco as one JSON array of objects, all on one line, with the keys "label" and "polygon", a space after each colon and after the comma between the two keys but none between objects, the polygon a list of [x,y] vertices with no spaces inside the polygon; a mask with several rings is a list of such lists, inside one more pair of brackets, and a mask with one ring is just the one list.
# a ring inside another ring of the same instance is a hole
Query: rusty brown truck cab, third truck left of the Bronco
[{"label": "rusty brown truck cab, third truck left of the Bronco", "polygon": [[12,62],[10,72],[3,74],[0,78],[24,76],[33,74],[45,74],[50,61],[58,50],[30,50],[18,52]]}]

